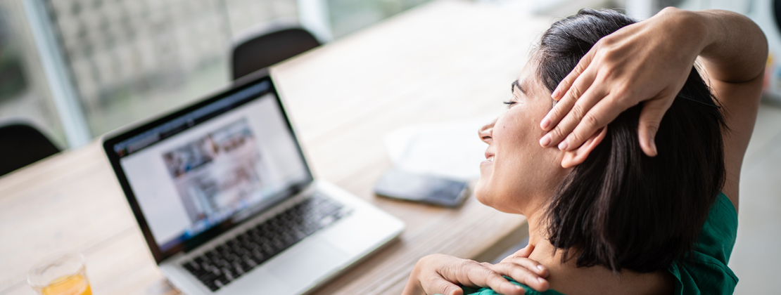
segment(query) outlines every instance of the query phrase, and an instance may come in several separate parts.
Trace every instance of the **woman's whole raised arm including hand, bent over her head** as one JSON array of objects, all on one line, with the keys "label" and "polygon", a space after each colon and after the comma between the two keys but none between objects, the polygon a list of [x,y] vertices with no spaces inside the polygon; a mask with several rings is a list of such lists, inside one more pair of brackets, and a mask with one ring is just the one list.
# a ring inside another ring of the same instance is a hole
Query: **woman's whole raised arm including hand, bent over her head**
[{"label": "woman's whole raised arm including hand, bent over her head", "polygon": [[756,24],[734,12],[667,8],[602,38],[551,94],[559,102],[540,123],[550,131],[540,144],[571,151],[619,113],[644,102],[640,146],[655,156],[659,122],[697,59],[730,129],[724,134],[722,191],[737,208],[740,165],[756,120],[767,42]]}]

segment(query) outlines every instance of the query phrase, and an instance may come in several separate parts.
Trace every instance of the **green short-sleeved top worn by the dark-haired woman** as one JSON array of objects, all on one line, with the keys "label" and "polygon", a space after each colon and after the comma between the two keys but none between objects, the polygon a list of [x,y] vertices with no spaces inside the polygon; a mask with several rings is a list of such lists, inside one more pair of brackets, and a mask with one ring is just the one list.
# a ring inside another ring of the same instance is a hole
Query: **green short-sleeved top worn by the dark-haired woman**
[{"label": "green short-sleeved top worn by the dark-haired woman", "polygon": [[[724,193],[708,213],[708,220],[702,226],[699,240],[694,244],[694,253],[689,261],[677,261],[670,265],[669,272],[676,278],[676,295],[683,294],[732,294],[737,277],[727,266],[737,236],[737,211]],[[508,278],[509,279],[509,278]],[[522,286],[526,295],[558,295],[555,290],[537,292],[529,286]],[[496,295],[490,288],[463,287],[464,294]]]}]

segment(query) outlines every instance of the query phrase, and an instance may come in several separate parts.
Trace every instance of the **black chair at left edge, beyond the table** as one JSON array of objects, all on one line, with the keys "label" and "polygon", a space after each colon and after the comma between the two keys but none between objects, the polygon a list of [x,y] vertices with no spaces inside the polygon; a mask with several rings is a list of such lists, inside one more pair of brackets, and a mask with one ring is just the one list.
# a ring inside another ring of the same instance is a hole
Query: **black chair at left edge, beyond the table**
[{"label": "black chair at left edge, beyond the table", "polygon": [[58,152],[52,141],[27,123],[0,126],[0,176]]}]

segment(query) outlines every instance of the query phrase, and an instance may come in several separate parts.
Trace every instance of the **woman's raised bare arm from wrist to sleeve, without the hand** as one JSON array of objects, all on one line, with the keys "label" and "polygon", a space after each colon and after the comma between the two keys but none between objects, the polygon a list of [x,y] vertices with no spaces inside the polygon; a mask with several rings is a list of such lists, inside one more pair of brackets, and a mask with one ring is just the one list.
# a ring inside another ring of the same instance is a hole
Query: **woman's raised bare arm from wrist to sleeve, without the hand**
[{"label": "woman's raised bare arm from wrist to sleeve, without the hand", "polygon": [[745,16],[722,10],[694,12],[708,36],[700,53],[706,81],[724,108],[726,183],[722,188],[738,205],[740,166],[757,120],[768,45],[765,34]]}]

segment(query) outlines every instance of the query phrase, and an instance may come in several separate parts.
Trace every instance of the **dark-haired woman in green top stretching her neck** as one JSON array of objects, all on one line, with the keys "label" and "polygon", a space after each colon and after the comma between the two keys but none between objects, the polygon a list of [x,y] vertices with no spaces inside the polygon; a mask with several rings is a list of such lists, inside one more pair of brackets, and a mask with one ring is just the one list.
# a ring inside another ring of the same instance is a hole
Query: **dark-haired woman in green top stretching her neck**
[{"label": "dark-haired woman in green top stretching her neck", "polygon": [[526,215],[530,247],[497,265],[427,256],[405,294],[732,293],[766,58],[764,34],[732,12],[635,23],[582,10],[554,23],[508,109],[480,130],[475,195]]}]

